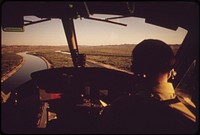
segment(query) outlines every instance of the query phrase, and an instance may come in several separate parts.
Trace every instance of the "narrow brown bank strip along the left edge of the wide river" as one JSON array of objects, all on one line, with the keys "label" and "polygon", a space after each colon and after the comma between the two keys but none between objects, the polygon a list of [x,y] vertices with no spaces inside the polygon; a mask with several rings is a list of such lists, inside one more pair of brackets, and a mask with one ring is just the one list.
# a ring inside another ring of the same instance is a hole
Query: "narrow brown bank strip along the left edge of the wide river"
[{"label": "narrow brown bank strip along the left edge of the wide river", "polygon": [[7,74],[3,75],[1,77],[1,83],[3,83],[5,80],[7,80],[9,77],[11,77],[12,75],[14,75],[24,64],[25,60],[24,58],[22,57],[22,60],[20,60],[20,64],[17,65],[17,66],[13,66],[11,68],[10,71],[7,72]]}]

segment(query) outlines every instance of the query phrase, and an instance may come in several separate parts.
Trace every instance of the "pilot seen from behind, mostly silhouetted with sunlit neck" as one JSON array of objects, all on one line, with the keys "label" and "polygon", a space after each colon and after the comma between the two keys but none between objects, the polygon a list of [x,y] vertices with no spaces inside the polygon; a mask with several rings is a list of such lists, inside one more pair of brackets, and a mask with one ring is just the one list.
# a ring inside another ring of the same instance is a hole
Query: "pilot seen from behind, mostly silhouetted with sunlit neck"
[{"label": "pilot seen from behind, mostly silhouetted with sunlit neck", "polygon": [[140,42],[132,51],[133,93],[104,111],[108,133],[195,133],[196,117],[175,93],[172,49],[160,40]]}]

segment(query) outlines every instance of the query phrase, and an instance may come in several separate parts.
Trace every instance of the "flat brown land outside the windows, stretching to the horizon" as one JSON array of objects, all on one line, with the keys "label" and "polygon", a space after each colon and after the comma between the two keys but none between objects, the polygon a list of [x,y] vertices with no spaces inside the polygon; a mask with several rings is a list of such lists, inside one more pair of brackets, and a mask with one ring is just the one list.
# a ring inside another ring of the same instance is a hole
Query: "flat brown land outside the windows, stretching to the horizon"
[{"label": "flat brown land outside the windows, stretching to the horizon", "polygon": [[[79,46],[79,53],[86,54],[87,60],[108,64],[116,68],[130,71],[131,55],[135,45],[99,45],[99,46]],[[179,45],[171,45],[174,53]],[[28,46],[28,45],[3,45],[1,46],[1,77],[17,66],[22,57],[18,52],[28,52],[36,56],[42,56],[51,63],[53,68],[72,67],[70,54],[63,54],[57,51],[70,52],[68,46]]]}]

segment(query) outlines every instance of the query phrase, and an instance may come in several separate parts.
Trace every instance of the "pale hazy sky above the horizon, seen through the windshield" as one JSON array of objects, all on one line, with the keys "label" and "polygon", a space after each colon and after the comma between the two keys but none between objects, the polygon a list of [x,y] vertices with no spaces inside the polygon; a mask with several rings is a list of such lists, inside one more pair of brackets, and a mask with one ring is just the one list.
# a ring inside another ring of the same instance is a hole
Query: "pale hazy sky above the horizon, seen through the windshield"
[{"label": "pale hazy sky above the horizon, seen through the windshield", "polygon": [[[94,17],[105,17],[96,15]],[[108,17],[108,16],[106,16]],[[38,20],[27,16],[26,20]],[[128,26],[77,19],[75,30],[79,45],[137,44],[144,39],[160,39],[168,44],[182,43],[187,31],[176,31],[145,23],[144,18],[129,17],[114,20]],[[2,32],[3,45],[67,45],[62,22],[59,19],[25,26],[25,32]]]}]

